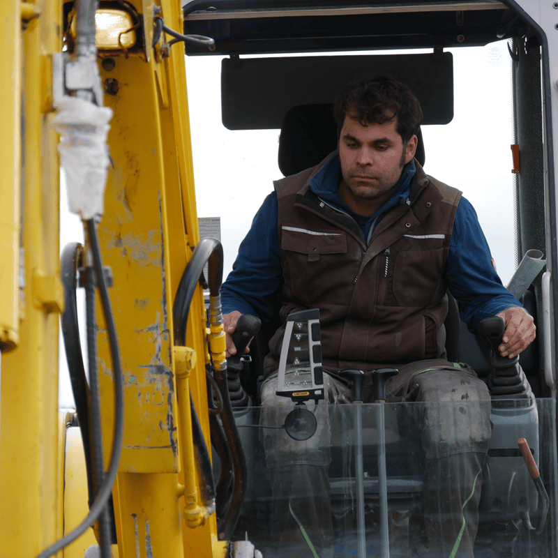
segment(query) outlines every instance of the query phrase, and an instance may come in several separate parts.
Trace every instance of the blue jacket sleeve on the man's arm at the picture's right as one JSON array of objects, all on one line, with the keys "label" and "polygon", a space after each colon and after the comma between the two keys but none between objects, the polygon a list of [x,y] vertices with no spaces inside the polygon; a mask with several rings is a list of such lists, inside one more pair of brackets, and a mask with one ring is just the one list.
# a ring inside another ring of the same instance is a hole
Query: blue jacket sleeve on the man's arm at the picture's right
[{"label": "blue jacket sleeve on the man's arm at the picture's right", "polygon": [[478,322],[506,308],[521,306],[492,267],[490,248],[470,202],[455,211],[445,278],[459,303],[461,319],[478,331]]}]

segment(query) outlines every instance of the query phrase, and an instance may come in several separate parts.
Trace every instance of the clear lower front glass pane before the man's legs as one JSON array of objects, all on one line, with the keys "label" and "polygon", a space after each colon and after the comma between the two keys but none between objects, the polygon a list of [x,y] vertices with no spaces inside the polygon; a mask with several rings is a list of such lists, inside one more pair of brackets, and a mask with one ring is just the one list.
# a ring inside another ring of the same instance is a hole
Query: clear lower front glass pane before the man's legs
[{"label": "clear lower front glass pane before the man's legs", "polygon": [[[421,403],[331,405],[328,416],[322,417],[331,430],[329,465],[273,467],[272,438],[281,438],[282,447],[298,444],[297,451],[302,452],[312,445],[318,448],[319,442],[313,444],[313,440],[322,439],[320,421],[310,439],[289,437],[284,426],[287,417],[301,407],[289,405],[288,400],[285,405],[280,412],[278,407],[235,411],[248,464],[248,492],[233,541],[247,536],[265,558],[364,556],[359,548],[366,556],[381,556],[386,544],[393,557],[438,556],[429,548],[432,529],[448,521],[458,527],[469,522],[469,493],[462,497],[463,511],[444,513],[447,506],[439,495],[446,493],[451,500],[455,487],[444,489],[451,478],[444,469],[434,478],[432,489],[428,470],[438,464],[428,463],[418,425],[426,414],[466,416],[475,411],[474,402],[428,404],[428,413]],[[320,417],[313,404],[304,408]],[[379,426],[382,420],[383,429]],[[492,439],[475,484],[480,499],[474,556],[552,556],[550,526],[555,525],[557,498],[555,420],[555,401],[551,399],[492,402]],[[446,423],[445,428],[449,431],[452,426]],[[527,440],[541,473],[540,485],[549,497],[546,513],[543,492],[539,493],[529,476],[518,449],[521,437]],[[219,478],[216,455],[213,462]],[[437,499],[432,498],[433,493],[438,494]],[[459,550],[456,556],[469,556],[460,553],[464,552],[465,536],[460,541],[446,541],[450,550]],[[445,555],[455,556],[451,552]]]}]

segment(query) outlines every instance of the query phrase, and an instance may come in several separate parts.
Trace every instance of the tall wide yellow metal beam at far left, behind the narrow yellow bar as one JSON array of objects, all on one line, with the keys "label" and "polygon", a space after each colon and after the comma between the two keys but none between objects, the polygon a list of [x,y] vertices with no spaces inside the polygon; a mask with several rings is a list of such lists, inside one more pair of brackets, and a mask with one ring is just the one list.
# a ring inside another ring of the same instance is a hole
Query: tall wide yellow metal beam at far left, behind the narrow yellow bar
[{"label": "tall wide yellow metal beam at far left, behind the narrow yellow bar", "polygon": [[[3,2],[2,22],[6,20],[8,5],[13,6],[14,2]],[[23,52],[15,61],[22,64],[24,72],[23,294],[27,301],[32,298],[33,271],[45,276],[59,275],[57,138],[50,129],[51,115],[42,110],[47,105],[46,82],[52,80],[51,75],[45,75],[48,66],[43,63],[43,57],[61,50],[60,30],[61,3],[56,0],[42,3],[40,17],[29,21],[22,33]],[[9,37],[14,36],[17,33],[14,35],[10,31]],[[17,110],[16,115],[18,119],[21,116]],[[13,142],[13,139],[6,134],[6,141]],[[13,162],[6,164],[3,172],[9,172],[12,167]],[[17,174],[19,176],[19,172]],[[19,188],[19,180],[15,188]],[[1,356],[1,558],[36,556],[61,536],[58,331],[58,314],[48,312],[44,306],[35,308],[27,303],[26,315],[20,324],[20,343],[12,352]]]}]

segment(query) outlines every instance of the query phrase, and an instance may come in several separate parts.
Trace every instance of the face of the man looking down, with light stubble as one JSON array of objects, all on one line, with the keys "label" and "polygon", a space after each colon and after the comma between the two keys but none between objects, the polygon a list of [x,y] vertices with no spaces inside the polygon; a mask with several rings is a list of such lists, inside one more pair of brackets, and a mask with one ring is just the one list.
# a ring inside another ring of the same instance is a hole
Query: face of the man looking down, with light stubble
[{"label": "face of the man looking down, with light stubble", "polygon": [[355,213],[372,215],[395,190],[403,166],[414,157],[417,140],[413,136],[404,146],[395,118],[361,126],[353,116],[345,116],[339,137],[339,195]]}]

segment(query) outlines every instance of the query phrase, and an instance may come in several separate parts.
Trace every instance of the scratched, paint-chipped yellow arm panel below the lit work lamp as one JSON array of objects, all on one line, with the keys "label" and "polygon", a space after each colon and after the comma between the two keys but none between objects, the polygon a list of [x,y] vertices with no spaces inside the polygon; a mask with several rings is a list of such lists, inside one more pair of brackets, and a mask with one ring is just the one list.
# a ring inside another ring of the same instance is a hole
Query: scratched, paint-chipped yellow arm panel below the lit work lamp
[{"label": "scratched, paint-chipped yellow arm panel below the lit work lamp", "polygon": [[[108,172],[99,236],[103,262],[111,266],[114,277],[110,296],[125,382],[120,470],[176,472],[169,247],[158,93],[153,70],[144,60],[121,56],[114,61],[113,70],[101,70],[101,79],[110,77],[118,83],[118,93],[105,96],[105,104],[114,111],[109,134],[114,169]],[[100,315],[99,310],[99,319]],[[101,323],[100,389],[107,458],[114,413],[110,354],[103,328]]]}]

